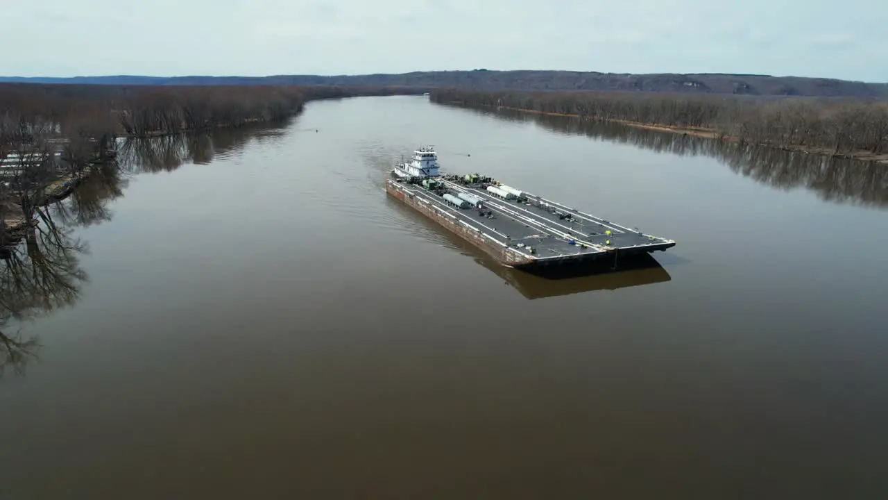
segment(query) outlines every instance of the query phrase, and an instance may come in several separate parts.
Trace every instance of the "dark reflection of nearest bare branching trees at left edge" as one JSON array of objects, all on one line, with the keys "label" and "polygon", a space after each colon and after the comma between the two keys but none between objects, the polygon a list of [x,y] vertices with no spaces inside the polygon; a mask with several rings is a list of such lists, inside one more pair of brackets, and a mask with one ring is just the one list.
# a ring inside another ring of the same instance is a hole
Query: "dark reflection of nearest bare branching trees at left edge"
[{"label": "dark reflection of nearest bare branching trees at left edge", "polygon": [[110,219],[107,202],[121,196],[123,180],[115,165],[95,173],[65,200],[37,209],[39,223],[0,260],[0,375],[20,373],[40,347],[20,325],[73,304],[88,279],[79,256],[86,245],[73,236],[76,226]]}]

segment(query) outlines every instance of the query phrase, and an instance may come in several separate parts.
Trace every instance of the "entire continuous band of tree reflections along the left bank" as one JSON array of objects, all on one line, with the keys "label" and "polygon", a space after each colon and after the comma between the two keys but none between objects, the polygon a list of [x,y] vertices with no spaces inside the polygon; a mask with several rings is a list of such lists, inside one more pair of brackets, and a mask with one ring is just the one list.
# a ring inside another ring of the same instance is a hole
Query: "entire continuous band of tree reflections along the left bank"
[{"label": "entire continuous band of tree reflections along the left bank", "polygon": [[118,165],[94,166],[90,177],[71,196],[37,209],[39,224],[0,259],[0,375],[6,369],[21,372],[36,358],[39,341],[24,335],[22,324],[80,297],[80,287],[88,277],[78,257],[86,246],[72,231],[111,219],[107,205],[123,196],[124,173],[209,163],[251,142],[280,141],[283,133],[280,127],[266,125],[123,140],[118,147]]}]

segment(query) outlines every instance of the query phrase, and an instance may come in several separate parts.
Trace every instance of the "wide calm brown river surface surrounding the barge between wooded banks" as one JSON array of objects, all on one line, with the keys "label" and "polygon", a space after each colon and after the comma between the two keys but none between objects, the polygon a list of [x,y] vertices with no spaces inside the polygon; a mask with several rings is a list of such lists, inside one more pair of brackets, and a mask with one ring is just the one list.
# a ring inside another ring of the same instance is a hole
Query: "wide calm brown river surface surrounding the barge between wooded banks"
[{"label": "wide calm brown river surface surrounding the barge between wooded banks", "polygon": [[[678,245],[497,267],[422,143]],[[884,167],[416,96],[121,158],[0,262],[4,500],[888,493]]]}]

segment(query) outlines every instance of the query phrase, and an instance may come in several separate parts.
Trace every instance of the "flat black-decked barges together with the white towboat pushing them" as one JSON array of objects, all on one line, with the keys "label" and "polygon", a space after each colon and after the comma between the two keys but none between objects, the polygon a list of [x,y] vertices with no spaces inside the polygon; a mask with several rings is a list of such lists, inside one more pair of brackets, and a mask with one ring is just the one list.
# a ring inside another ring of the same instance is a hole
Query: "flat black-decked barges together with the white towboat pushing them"
[{"label": "flat black-decked barges together with the white towboat pushing them", "polygon": [[395,165],[385,192],[512,268],[615,260],[675,246],[490,177],[440,173],[431,147]]}]

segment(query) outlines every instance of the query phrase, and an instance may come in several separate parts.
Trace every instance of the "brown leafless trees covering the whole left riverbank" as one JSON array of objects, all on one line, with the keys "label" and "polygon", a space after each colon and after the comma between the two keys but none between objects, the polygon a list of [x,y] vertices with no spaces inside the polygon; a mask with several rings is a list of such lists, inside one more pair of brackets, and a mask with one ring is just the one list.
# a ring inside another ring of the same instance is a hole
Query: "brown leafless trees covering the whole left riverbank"
[{"label": "brown leafless trees covering the whole left riverbank", "polygon": [[115,157],[117,138],[273,122],[305,101],[421,93],[405,87],[0,85],[0,248],[10,226],[69,192],[91,165]]}]

